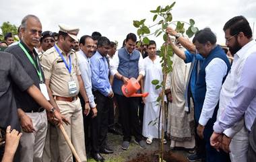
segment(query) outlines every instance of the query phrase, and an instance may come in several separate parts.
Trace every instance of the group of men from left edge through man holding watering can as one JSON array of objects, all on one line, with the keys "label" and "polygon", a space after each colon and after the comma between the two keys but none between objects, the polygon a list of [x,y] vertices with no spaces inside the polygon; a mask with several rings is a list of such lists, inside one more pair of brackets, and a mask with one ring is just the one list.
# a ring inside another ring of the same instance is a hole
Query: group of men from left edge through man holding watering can
[{"label": "group of men from left edge through man holding watering can", "polygon": [[127,98],[121,92],[130,77],[139,81],[144,75],[135,34],[128,34],[125,47],[115,54],[117,45],[98,32],[78,40],[79,28],[59,28],[56,41],[53,32],[42,32],[38,17],[26,15],[19,28],[21,40],[1,52],[1,83],[8,93],[0,98],[8,97],[8,102],[1,102],[0,126],[22,132],[15,161],[73,161],[60,124],[81,161],[87,161],[86,140],[92,157],[104,161],[100,153],[113,153],[107,132],[109,123],[114,124],[114,114],[108,113],[114,112],[114,93],[123,126],[122,148],[129,149],[134,135],[135,143],[146,149],[137,116],[139,97]]}]

